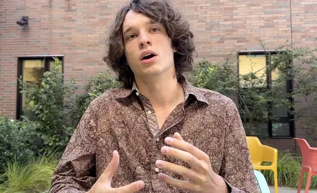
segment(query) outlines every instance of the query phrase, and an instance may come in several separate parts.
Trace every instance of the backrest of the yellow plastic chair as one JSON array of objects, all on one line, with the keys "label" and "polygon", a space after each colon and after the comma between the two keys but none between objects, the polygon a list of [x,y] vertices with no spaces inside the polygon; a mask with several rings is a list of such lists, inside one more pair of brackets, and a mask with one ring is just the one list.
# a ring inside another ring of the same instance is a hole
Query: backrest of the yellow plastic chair
[{"label": "backrest of the yellow plastic chair", "polygon": [[252,163],[260,164],[262,162],[262,144],[257,137],[247,136],[248,147]]}]

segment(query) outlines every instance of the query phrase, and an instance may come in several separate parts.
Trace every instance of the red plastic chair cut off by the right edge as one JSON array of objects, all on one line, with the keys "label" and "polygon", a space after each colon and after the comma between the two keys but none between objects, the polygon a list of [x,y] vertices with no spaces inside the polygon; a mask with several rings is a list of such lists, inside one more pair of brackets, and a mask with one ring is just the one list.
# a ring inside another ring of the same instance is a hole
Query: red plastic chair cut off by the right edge
[{"label": "red plastic chair cut off by the right edge", "polygon": [[309,186],[311,184],[311,178],[312,176],[317,175],[317,148],[311,147],[305,139],[294,139],[296,139],[302,154],[302,171],[299,177],[297,193],[300,193],[304,172],[308,172],[307,184],[305,189],[305,193],[308,193]]}]

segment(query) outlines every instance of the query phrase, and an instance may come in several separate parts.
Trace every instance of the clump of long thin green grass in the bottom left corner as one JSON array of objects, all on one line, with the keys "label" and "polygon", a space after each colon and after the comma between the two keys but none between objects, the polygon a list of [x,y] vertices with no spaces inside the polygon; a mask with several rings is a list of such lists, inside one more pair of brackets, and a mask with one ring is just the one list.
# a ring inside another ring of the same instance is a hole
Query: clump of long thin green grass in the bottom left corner
[{"label": "clump of long thin green grass in the bottom left corner", "polygon": [[1,193],[42,193],[51,186],[51,177],[58,164],[54,152],[28,164],[7,162],[5,172],[0,175]]}]

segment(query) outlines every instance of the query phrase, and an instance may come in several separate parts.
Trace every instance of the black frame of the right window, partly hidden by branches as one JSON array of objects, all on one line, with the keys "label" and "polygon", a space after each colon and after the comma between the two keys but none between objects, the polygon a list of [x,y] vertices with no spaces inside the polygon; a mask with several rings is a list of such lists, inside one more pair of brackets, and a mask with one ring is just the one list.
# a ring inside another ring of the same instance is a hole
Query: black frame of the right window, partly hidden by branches
[{"label": "black frame of the right window, partly hidden by branches", "polygon": [[[268,66],[271,62],[271,58],[268,59],[268,56],[274,55],[274,54],[278,54],[279,52],[283,52],[285,50],[243,50],[243,51],[237,51],[237,78],[238,78],[238,82],[240,82],[240,77],[239,77],[239,56],[242,55],[265,55],[266,56],[266,66]],[[272,84],[272,75],[271,72],[270,73],[266,73],[266,89],[270,89],[270,85]],[[287,80],[285,82],[285,86],[286,86],[286,92],[287,93],[291,93],[291,91],[293,90],[294,86],[293,86],[293,80]],[[238,89],[240,89],[240,83],[238,84]],[[245,88],[247,89],[247,88]],[[238,102],[240,102],[239,97],[237,98]],[[294,98],[292,97],[288,97],[288,100],[293,102]],[[268,116],[272,115],[272,112],[270,111],[270,108],[273,108],[272,103],[268,104]],[[291,111],[294,111],[294,107],[290,108]],[[283,138],[293,138],[295,137],[295,120],[294,120],[294,115],[290,114],[289,112],[287,112],[287,117],[278,117],[279,120],[275,120],[274,123],[288,123],[288,136],[283,136],[283,135],[273,135],[273,121],[269,120],[267,122],[267,128],[268,128],[268,136],[263,136],[263,135],[256,135],[259,138],[278,138],[278,139],[283,139]],[[248,118],[246,118],[247,120]],[[285,121],[285,119],[288,120],[288,122]],[[281,121],[284,120],[284,121]],[[241,117],[241,121],[242,123],[244,123],[244,118]]]}]

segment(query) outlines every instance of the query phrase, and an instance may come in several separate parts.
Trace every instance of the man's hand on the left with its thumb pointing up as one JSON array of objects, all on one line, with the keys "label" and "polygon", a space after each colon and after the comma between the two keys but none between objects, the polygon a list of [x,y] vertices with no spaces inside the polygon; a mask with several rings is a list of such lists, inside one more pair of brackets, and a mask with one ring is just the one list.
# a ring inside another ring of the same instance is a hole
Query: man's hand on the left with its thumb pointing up
[{"label": "man's hand on the left with its thumb pointing up", "polygon": [[139,180],[120,188],[111,188],[111,181],[119,165],[119,153],[113,151],[112,160],[88,193],[134,193],[144,188],[144,182]]}]

